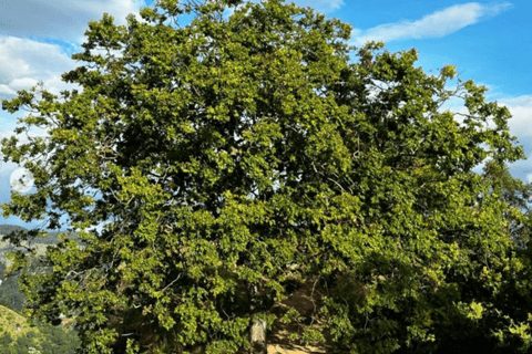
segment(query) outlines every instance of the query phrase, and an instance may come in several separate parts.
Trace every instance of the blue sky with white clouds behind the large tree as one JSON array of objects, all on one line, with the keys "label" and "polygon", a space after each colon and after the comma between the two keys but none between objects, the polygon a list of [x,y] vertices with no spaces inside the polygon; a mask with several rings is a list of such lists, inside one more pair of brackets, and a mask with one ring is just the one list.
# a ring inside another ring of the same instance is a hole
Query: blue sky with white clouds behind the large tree
[{"label": "blue sky with white clouds behind the large tree", "polygon": [[[437,74],[442,66],[453,64],[463,80],[485,85],[489,101],[510,110],[511,133],[528,156],[528,160],[513,164],[510,171],[532,181],[532,1],[294,2],[350,23],[350,44],[378,40],[390,52],[416,48],[417,65],[426,72]],[[18,90],[28,90],[39,81],[57,94],[74,88],[61,81],[61,74],[76,67],[71,55],[81,51],[89,21],[100,20],[108,12],[116,23],[125,24],[129,13],[137,14],[152,4],[152,0],[0,1],[0,100],[12,98]],[[0,110],[0,138],[13,134],[21,114]],[[10,176],[18,167],[3,163],[0,156],[0,204],[11,199]],[[39,225],[0,216],[1,223]]]}]

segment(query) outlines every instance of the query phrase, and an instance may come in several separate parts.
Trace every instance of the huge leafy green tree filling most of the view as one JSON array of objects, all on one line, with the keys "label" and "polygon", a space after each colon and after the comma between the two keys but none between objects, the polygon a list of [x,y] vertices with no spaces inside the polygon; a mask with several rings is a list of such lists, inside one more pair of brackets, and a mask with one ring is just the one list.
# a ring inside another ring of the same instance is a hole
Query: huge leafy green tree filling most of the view
[{"label": "huge leafy green tree filling most of the view", "polygon": [[2,140],[37,187],[3,215],[52,230],[66,215],[79,231],[49,247],[49,271],[27,271],[34,316],[74,319],[82,353],[235,353],[298,279],[315,311],[284,317],[306,342],[528,350],[530,257],[472,171],[524,156],[483,86],[449,90],[453,66],[431,76],[416,50],[349,46],[350,25],[280,0],[160,0],[141,17],[89,23],[63,75],[82,92],[2,102],[32,112],[17,133],[49,132]]}]

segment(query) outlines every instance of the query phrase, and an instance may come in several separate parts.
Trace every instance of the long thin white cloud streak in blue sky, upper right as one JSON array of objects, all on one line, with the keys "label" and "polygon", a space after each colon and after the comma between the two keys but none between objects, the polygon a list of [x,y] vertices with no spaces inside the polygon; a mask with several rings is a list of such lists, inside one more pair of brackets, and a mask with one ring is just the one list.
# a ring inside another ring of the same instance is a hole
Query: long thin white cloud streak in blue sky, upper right
[{"label": "long thin white cloud streak in blue sky, upper right", "polygon": [[468,2],[432,12],[420,20],[385,23],[369,30],[355,29],[352,43],[398,41],[405,39],[441,38],[468,25],[494,17],[512,7],[510,2]]}]

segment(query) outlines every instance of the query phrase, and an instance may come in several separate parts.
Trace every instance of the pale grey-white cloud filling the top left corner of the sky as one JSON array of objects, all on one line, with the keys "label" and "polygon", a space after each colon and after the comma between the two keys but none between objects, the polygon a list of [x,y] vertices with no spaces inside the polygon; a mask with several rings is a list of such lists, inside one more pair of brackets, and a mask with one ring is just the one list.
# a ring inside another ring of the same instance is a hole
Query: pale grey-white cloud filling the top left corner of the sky
[{"label": "pale grey-white cloud filling the top left corner of the sky", "polygon": [[0,34],[54,38],[79,42],[91,20],[104,12],[124,24],[129,13],[145,7],[143,0],[12,0],[0,6]]}]

